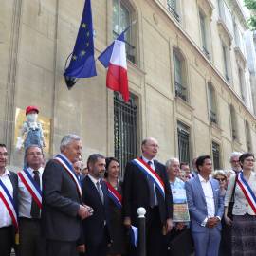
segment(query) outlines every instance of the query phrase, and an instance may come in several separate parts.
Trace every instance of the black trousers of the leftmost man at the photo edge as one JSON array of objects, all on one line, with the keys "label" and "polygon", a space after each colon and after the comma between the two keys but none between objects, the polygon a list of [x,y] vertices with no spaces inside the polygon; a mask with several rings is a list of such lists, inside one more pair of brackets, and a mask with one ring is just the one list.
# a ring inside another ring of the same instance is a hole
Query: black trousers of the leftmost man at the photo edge
[{"label": "black trousers of the leftmost man at the photo edge", "polygon": [[0,228],[0,255],[9,256],[12,247],[14,247],[13,227]]}]

